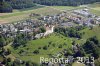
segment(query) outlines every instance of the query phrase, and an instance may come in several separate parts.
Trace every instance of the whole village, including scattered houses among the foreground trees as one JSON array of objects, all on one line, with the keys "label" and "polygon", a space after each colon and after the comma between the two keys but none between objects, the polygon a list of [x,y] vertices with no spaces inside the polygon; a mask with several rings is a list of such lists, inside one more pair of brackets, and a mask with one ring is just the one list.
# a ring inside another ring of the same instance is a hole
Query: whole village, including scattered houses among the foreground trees
[{"label": "whole village, including scattered houses among the foreground trees", "polygon": [[[30,14],[30,17],[39,16],[39,14]],[[94,27],[100,25],[100,16],[91,14],[87,8],[78,9],[72,12],[62,12],[57,15],[40,16],[38,19],[26,19],[15,23],[0,25],[0,34],[7,38],[16,38],[17,34],[31,35],[30,40],[37,40],[54,33],[55,27],[70,28],[75,26]],[[41,29],[42,27],[42,29]],[[73,50],[77,52],[79,45],[73,45]],[[56,53],[54,57],[59,57],[66,53],[66,50]],[[69,56],[69,63],[73,62],[73,56]],[[48,63],[48,66],[53,64]],[[59,64],[65,66],[65,64]],[[94,64],[92,64],[94,66]]]}]

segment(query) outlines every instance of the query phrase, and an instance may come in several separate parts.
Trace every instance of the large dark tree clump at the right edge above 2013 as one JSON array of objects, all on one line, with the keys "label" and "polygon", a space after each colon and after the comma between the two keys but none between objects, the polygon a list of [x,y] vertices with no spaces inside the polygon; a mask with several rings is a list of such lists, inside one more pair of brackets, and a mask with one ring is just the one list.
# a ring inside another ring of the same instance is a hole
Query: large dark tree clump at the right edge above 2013
[{"label": "large dark tree clump at the right edge above 2013", "polygon": [[98,39],[96,37],[89,38],[86,43],[83,45],[86,53],[91,54],[95,59],[100,57],[100,48],[98,46]]}]

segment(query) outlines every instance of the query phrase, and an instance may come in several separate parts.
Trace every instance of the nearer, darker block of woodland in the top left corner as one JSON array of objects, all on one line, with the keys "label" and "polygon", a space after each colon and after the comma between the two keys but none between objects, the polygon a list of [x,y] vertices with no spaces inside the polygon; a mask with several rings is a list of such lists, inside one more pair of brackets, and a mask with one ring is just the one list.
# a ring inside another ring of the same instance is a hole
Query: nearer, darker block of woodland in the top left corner
[{"label": "nearer, darker block of woodland in the top left corner", "polygon": [[0,0],[0,12],[12,12],[13,9],[33,7],[32,0]]}]

